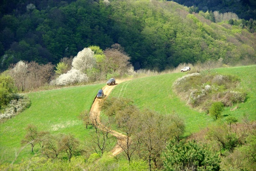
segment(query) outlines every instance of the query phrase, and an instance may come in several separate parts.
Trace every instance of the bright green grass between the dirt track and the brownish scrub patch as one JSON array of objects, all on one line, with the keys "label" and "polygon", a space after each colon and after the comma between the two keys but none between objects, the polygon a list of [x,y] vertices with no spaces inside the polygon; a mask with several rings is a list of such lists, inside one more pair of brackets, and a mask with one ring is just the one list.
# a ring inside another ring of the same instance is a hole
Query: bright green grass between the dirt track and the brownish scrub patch
[{"label": "bright green grass between the dirt track and the brownish scrub patch", "polygon": [[210,124],[213,119],[205,113],[189,108],[186,102],[173,92],[173,82],[185,73],[172,73],[144,77],[122,82],[112,96],[131,98],[139,108],[148,108],[160,114],[178,114],[186,125],[186,134],[197,132]]}]

